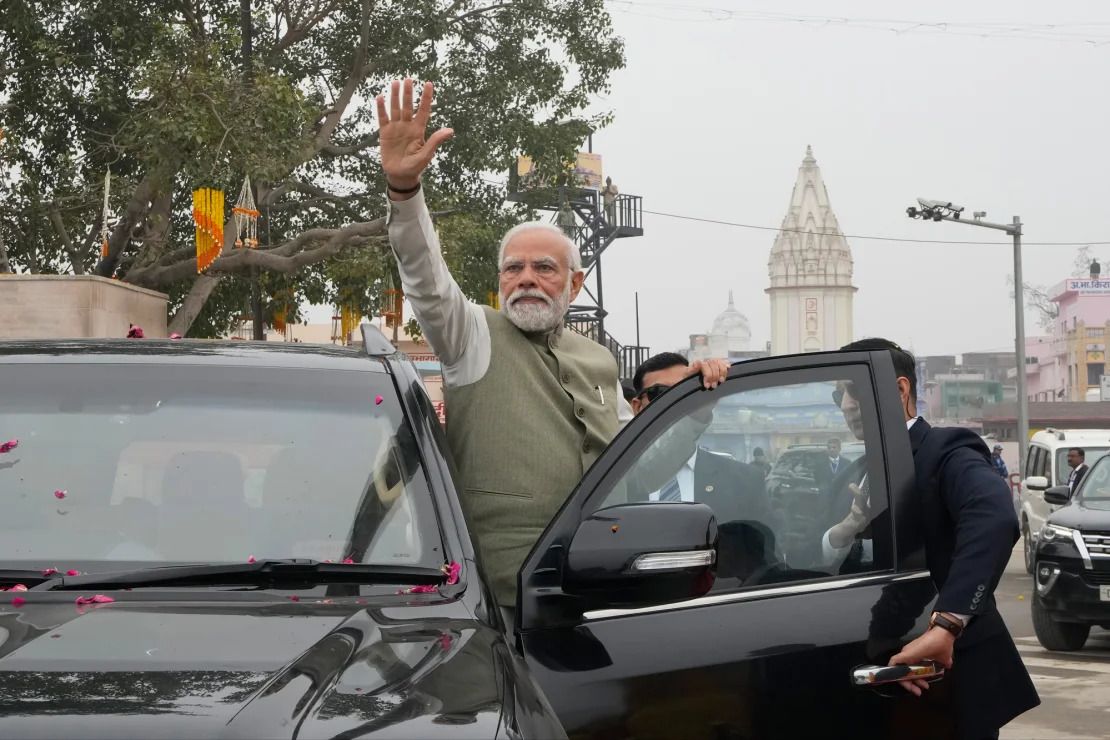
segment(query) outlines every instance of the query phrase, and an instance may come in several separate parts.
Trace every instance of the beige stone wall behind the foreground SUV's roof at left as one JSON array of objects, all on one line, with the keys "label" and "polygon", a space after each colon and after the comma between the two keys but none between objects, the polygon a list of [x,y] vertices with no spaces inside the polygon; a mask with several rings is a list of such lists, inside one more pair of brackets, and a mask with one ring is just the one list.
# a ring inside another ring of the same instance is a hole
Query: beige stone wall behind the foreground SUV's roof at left
[{"label": "beige stone wall behind the foreground SUV's roof at left", "polygon": [[164,293],[92,275],[0,275],[0,339],[167,336]]}]

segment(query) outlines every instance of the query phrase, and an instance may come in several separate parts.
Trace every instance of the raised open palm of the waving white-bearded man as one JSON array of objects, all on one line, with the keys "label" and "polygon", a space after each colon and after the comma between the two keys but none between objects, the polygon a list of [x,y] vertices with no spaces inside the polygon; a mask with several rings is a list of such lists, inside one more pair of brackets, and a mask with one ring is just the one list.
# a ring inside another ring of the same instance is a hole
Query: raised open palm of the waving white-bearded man
[{"label": "raised open palm of the waving white-bearded man", "polygon": [[420,184],[420,176],[435,156],[435,150],[455,133],[451,129],[440,129],[425,140],[433,98],[432,83],[425,82],[420,107],[413,110],[413,81],[407,78],[404,82],[394,80],[390,85],[389,113],[385,95],[377,97],[382,170],[394,187],[408,190]]}]

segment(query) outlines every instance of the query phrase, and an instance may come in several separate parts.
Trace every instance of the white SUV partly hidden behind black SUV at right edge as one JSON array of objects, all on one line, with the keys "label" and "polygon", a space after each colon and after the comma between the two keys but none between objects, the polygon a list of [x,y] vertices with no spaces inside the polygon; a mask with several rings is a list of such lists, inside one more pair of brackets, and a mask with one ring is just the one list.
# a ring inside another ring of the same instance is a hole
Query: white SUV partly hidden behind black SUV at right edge
[{"label": "white SUV partly hidden behind black SUV at right edge", "polygon": [[1041,527],[1059,506],[1045,500],[1045,490],[1067,486],[1071,468],[1068,450],[1079,447],[1086,455],[1084,463],[1094,465],[1110,452],[1110,429],[1045,429],[1029,440],[1026,470],[1018,494],[1018,519],[1025,540],[1026,570],[1033,571],[1033,551]]}]

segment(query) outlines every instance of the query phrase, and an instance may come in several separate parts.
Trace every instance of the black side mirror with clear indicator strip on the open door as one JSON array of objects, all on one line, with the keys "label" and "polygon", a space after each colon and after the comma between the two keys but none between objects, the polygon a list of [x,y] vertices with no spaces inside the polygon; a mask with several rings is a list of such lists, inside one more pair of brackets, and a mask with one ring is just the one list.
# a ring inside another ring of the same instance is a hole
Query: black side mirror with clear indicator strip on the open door
[{"label": "black side mirror with clear indicator strip on the open door", "polygon": [[717,520],[705,504],[624,504],[578,525],[563,591],[586,608],[639,607],[704,596],[713,587]]}]

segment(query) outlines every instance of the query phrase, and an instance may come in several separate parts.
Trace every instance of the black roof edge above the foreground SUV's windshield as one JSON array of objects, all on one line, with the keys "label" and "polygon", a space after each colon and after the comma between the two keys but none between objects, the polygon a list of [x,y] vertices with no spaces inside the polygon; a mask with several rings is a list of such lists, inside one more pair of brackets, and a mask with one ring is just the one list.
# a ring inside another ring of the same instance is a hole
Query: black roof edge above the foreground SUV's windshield
[{"label": "black roof edge above the foreground SUV's windshield", "polygon": [[[400,358],[400,355],[395,355]],[[387,357],[361,347],[226,339],[0,341],[0,364],[220,365],[385,373]]]}]

